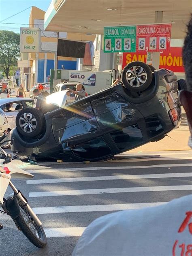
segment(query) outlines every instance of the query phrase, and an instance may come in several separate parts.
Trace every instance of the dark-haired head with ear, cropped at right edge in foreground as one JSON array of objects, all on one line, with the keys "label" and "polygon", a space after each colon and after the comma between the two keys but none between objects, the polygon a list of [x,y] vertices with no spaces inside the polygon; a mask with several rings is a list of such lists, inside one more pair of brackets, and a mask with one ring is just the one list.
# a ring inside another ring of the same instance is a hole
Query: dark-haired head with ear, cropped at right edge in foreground
[{"label": "dark-haired head with ear, cropped at right edge in foreground", "polygon": [[[186,72],[187,90],[179,93],[181,105],[186,111],[192,136],[192,15],[187,26],[187,34],[183,45],[183,64]],[[191,145],[192,146],[192,145]]]}]

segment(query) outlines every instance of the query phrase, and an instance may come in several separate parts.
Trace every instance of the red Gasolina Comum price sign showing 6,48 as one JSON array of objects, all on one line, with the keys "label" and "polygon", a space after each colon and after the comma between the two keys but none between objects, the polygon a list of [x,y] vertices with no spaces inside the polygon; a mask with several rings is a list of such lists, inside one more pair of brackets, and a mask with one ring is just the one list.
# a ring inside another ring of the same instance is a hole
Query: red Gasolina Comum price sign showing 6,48
[{"label": "red Gasolina Comum price sign showing 6,48", "polygon": [[137,26],[137,51],[169,51],[171,24]]}]

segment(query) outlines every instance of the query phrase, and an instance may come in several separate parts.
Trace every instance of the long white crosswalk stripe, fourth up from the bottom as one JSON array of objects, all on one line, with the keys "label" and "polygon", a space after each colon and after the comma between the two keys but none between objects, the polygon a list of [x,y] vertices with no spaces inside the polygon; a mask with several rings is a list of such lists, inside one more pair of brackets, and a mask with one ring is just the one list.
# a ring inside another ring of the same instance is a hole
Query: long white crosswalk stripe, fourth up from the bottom
[{"label": "long white crosswalk stripe, fourth up from the bottom", "polygon": [[160,173],[160,174],[111,175],[111,176],[99,176],[99,177],[77,177],[77,178],[58,178],[58,179],[34,179],[34,180],[28,180],[27,184],[104,181],[104,180],[118,180],[118,179],[160,179],[160,178],[175,178],[175,177],[192,177],[192,173]]}]

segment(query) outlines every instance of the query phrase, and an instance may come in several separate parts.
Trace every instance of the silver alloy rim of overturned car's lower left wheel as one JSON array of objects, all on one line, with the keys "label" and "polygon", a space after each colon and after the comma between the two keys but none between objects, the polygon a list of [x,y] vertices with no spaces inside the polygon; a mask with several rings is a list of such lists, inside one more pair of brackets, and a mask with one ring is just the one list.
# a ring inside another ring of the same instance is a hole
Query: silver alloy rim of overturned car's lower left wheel
[{"label": "silver alloy rim of overturned car's lower left wheel", "polygon": [[31,133],[37,127],[37,120],[31,113],[24,113],[19,118],[19,126],[24,132]]}]

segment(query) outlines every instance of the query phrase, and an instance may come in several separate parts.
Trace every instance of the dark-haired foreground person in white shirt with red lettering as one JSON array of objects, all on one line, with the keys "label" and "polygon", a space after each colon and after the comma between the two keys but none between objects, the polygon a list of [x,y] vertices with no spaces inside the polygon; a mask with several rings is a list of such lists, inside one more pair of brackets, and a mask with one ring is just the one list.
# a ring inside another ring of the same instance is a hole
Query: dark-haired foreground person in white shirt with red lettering
[{"label": "dark-haired foreground person in white shirt with red lettering", "polygon": [[[183,46],[187,90],[179,92],[192,147],[192,16]],[[192,190],[192,185],[188,185]],[[117,211],[92,222],[73,256],[192,256],[192,194],[156,207]]]}]

